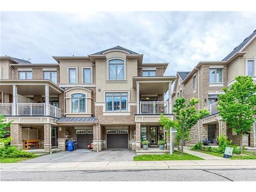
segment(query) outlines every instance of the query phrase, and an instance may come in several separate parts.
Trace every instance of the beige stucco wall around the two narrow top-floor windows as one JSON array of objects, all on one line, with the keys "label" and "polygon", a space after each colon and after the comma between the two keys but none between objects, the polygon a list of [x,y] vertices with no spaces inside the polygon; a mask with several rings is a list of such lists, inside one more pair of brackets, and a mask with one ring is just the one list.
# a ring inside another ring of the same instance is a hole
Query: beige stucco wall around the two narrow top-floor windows
[{"label": "beige stucco wall around the two narrow top-floor windows", "polygon": [[90,66],[93,67],[93,82],[95,82],[95,70],[94,66],[92,65],[92,62],[90,61],[85,61],[85,60],[80,60],[80,61],[60,61],[59,64],[59,71],[60,71],[60,84],[62,83],[69,83],[68,82],[68,67],[73,67],[77,68],[77,83],[82,83],[82,67],[83,66]]}]

